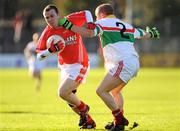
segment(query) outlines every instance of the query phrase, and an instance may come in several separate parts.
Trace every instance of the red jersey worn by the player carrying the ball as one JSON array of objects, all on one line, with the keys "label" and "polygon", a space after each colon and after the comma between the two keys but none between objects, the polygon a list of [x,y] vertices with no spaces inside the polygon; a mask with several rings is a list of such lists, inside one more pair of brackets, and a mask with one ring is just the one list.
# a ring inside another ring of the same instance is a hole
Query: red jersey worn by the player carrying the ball
[{"label": "red jersey worn by the player carrying the ball", "polygon": [[[85,11],[72,13],[66,18],[77,26],[82,26],[87,22]],[[59,64],[88,64],[88,54],[81,36],[63,27],[54,29],[47,25],[39,39],[38,46],[36,48],[37,52],[47,49],[46,41],[51,35],[60,35],[65,40],[64,50],[58,53]]]}]

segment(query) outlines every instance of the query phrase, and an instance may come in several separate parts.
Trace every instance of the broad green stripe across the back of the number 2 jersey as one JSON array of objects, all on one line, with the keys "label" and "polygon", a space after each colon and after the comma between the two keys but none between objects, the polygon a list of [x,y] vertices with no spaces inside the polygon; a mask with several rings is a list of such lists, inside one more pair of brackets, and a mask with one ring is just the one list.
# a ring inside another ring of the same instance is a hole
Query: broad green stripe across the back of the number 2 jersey
[{"label": "broad green stripe across the back of the number 2 jersey", "polygon": [[134,42],[134,34],[132,33],[125,33],[126,36],[129,36],[129,38],[123,38],[120,32],[110,32],[110,31],[104,31],[102,35],[100,35],[101,38],[101,44],[103,47],[105,47],[108,44],[114,44],[116,42],[121,41],[127,41],[127,42]]}]

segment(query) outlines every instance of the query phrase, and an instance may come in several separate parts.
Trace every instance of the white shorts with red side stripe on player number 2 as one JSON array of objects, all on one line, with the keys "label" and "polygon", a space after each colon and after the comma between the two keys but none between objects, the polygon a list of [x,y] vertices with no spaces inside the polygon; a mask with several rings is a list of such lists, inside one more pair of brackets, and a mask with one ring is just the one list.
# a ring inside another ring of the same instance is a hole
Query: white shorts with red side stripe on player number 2
[{"label": "white shorts with red side stripe on player number 2", "polygon": [[139,67],[139,59],[135,56],[121,60],[118,64],[106,63],[108,72],[114,77],[119,77],[125,83],[137,75]]}]

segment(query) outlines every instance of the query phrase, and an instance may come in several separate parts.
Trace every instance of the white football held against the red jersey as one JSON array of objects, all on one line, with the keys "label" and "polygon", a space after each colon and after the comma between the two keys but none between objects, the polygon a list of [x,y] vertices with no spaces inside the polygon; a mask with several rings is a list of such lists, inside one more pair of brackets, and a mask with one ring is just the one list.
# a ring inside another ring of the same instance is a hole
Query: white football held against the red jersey
[{"label": "white football held against the red jersey", "polygon": [[49,48],[51,46],[52,41],[54,41],[53,44],[56,44],[56,43],[61,41],[65,45],[65,40],[61,36],[51,35],[46,41],[46,47],[47,48]]}]

